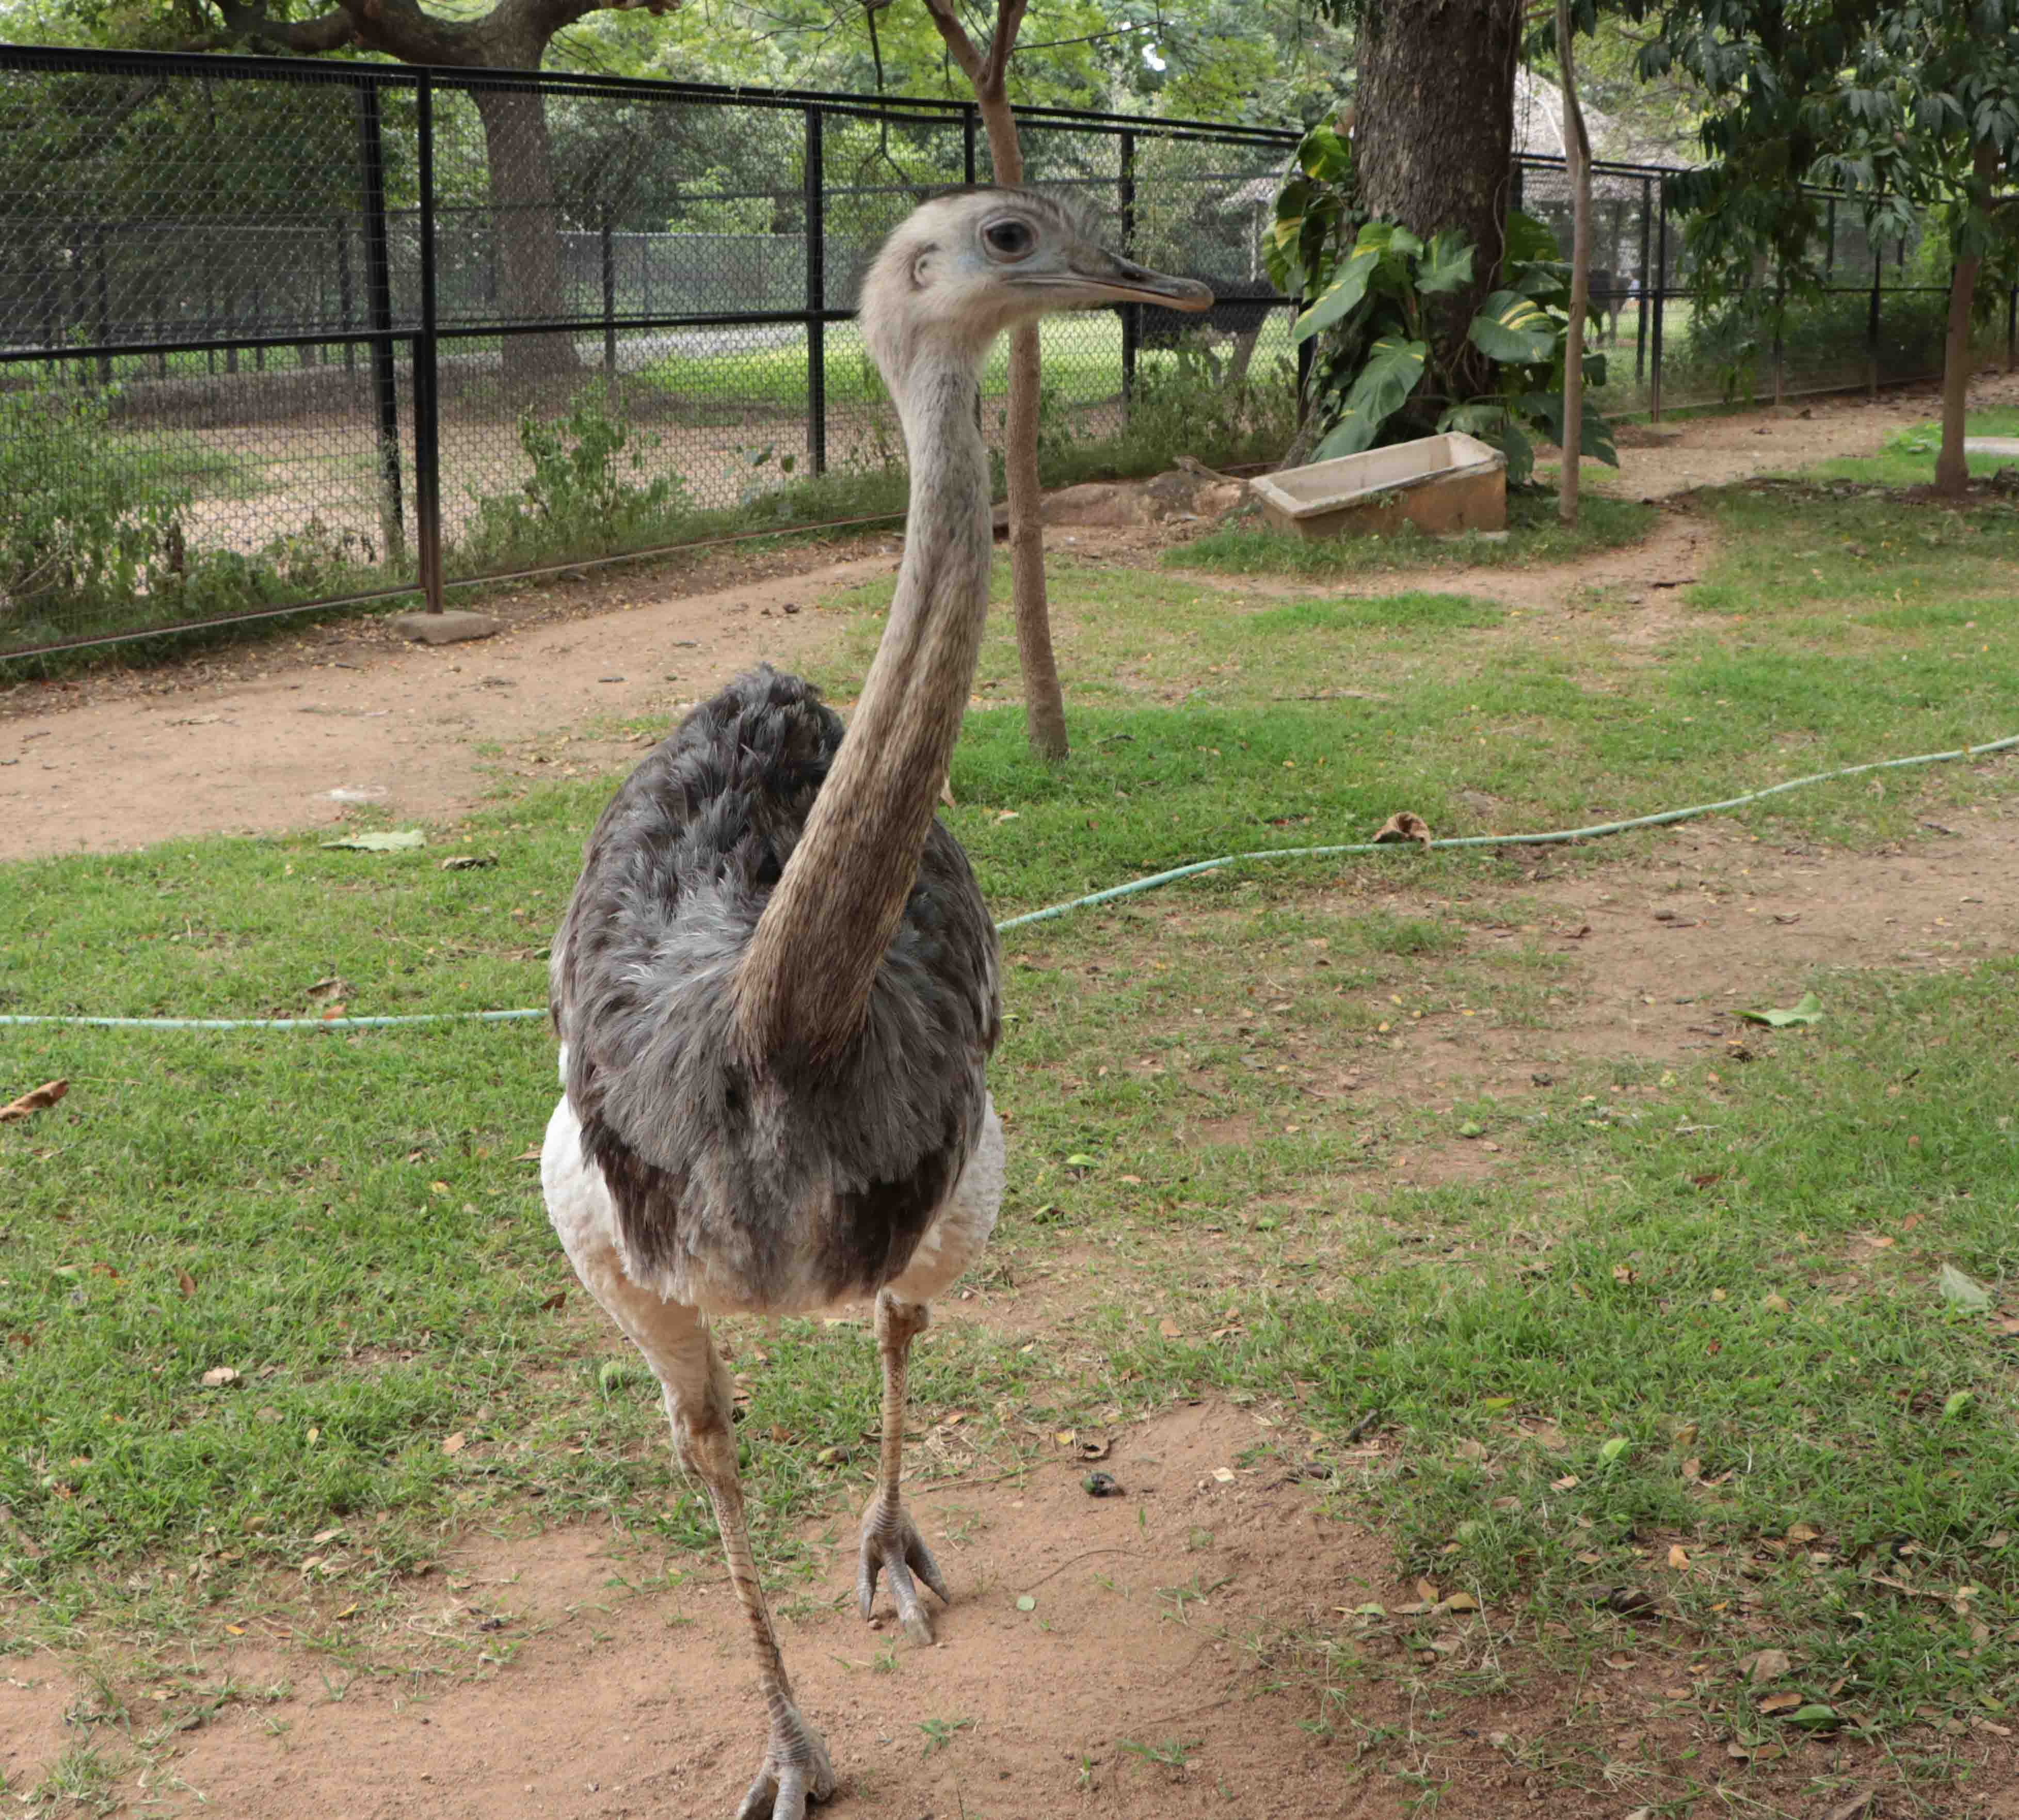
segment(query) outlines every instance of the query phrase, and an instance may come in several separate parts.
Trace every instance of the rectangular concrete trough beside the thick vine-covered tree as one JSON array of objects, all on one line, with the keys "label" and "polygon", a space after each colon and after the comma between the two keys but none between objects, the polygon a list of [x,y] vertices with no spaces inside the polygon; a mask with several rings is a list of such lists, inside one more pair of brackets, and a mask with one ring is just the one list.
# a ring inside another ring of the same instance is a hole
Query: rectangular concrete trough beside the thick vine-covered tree
[{"label": "rectangular concrete trough beside the thick vine-covered tree", "polygon": [[1506,457],[1448,430],[1250,481],[1262,513],[1298,537],[1391,537],[1419,531],[1502,531],[1508,521]]}]

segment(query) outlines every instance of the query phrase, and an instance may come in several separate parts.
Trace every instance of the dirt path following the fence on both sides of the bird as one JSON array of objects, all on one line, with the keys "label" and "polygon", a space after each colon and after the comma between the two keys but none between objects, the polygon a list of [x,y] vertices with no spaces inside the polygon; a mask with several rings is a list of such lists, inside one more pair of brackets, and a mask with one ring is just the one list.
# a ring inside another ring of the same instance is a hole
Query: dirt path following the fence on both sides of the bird
[{"label": "dirt path following the fence on both sides of the bird", "polygon": [[[1977,402],[2013,390],[1987,378]],[[1625,491],[1666,497],[1872,452],[1932,402],[1902,392],[1803,408],[1811,414],[1704,418],[1660,446],[1625,448]],[[1054,531],[1060,543],[1068,535],[1147,549],[1163,533]],[[1670,580],[1694,572],[1702,535],[1678,519],[1637,549],[1579,568],[1480,572],[1490,582],[1482,592],[1543,604],[1579,584]],[[454,816],[493,788],[499,766],[485,747],[670,715],[757,656],[804,661],[822,638],[820,602],[888,574],[894,560],[894,539],[840,560],[832,547],[723,558],[701,570],[707,592],[686,592],[693,574],[608,570],[533,596],[533,606],[525,596],[501,602],[507,630],[479,644],[408,646],[378,622],[351,620],[145,673],[24,683],[0,693],[0,861],[315,826],[343,814],[333,790],[400,818]],[[1452,580],[1446,572],[1442,586]],[[563,772],[616,768],[628,749],[571,741],[545,757]]]}]

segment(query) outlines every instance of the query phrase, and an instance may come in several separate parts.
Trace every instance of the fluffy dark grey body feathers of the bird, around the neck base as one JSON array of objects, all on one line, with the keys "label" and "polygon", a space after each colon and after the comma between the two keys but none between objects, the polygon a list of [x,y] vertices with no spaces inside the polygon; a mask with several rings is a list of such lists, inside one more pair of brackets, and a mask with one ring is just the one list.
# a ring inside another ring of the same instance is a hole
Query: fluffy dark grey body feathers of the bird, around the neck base
[{"label": "fluffy dark grey body feathers of the bird, around the neck base", "polygon": [[874,1293],[981,1133],[995,929],[939,822],[846,1048],[737,1054],[735,972],[840,741],[810,685],[739,677],[618,790],[555,935],[583,1155],[616,1202],[626,1273],[688,1305]]}]

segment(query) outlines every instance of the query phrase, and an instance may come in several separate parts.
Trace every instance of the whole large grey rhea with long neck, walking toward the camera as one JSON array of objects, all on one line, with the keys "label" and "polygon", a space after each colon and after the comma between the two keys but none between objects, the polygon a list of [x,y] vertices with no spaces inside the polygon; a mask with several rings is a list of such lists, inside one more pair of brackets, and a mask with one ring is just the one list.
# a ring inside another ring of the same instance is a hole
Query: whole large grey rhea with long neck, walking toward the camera
[{"label": "whole large grey rhea with long neck, walking toward the camera", "polygon": [[884,242],[860,321],[911,457],[896,596],[840,719],[769,669],[697,707],[590,836],[553,941],[565,1093],[541,1184],[575,1273],[658,1378],[709,1495],[769,1715],[739,1820],[834,1792],[743,1523],[717,1313],[874,1299],[882,1450],[856,1600],[886,1578],[915,1644],[947,1582],[898,1495],[905,1376],[927,1303],[979,1254],[1003,1186],[983,1079],[997,949],[933,818],[989,598],[981,362],[1003,329],[1088,303],[1211,293],[1094,246],[1024,190],[927,202]]}]

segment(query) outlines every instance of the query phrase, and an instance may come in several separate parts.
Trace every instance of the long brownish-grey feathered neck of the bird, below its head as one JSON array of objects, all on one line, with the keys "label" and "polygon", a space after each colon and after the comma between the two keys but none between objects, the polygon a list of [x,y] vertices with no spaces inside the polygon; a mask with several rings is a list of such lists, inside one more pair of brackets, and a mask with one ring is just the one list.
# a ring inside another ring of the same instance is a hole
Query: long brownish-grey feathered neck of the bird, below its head
[{"label": "long brownish-grey feathered neck of the bird, below its head", "polygon": [[820,1065],[862,1028],[981,652],[993,539],[977,349],[923,341],[902,353],[888,378],[911,459],[905,560],[848,737],[737,974],[751,1063]]}]

